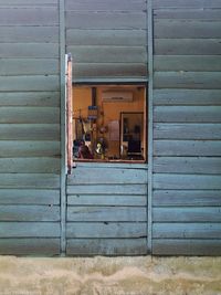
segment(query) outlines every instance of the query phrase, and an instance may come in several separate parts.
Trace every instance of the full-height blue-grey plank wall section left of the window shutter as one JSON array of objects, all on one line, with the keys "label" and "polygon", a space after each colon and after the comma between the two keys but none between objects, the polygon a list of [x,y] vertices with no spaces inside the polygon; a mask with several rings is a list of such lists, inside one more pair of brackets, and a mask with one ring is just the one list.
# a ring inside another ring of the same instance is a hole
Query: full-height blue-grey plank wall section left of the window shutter
[{"label": "full-height blue-grey plank wall section left of the window shutter", "polygon": [[60,253],[57,0],[0,0],[0,254]]}]

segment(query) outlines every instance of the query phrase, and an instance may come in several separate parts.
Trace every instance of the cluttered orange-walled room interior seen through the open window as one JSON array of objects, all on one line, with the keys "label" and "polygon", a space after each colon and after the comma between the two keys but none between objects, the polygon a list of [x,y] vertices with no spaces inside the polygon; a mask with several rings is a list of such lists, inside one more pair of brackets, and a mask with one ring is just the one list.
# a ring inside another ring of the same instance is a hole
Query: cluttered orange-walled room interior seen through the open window
[{"label": "cluttered orange-walled room interior seen through the open window", "polygon": [[73,160],[145,161],[144,86],[73,87]]}]

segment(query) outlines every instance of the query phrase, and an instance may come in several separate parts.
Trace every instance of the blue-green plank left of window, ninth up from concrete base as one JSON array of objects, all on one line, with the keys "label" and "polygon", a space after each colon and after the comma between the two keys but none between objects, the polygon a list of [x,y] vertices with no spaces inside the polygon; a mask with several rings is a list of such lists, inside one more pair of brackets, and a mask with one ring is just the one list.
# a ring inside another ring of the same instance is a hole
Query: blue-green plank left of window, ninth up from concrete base
[{"label": "blue-green plank left of window, ninth up from concrete base", "polygon": [[59,124],[59,107],[21,107],[2,106],[0,108],[0,124]]}]

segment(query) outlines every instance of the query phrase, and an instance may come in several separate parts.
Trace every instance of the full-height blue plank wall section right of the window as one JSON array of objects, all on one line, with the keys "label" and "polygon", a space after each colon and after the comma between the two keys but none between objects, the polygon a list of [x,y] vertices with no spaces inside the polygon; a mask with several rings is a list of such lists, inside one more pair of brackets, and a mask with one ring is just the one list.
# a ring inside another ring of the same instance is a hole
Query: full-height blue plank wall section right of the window
[{"label": "full-height blue plank wall section right of the window", "polygon": [[221,1],[152,2],[152,253],[218,255]]}]

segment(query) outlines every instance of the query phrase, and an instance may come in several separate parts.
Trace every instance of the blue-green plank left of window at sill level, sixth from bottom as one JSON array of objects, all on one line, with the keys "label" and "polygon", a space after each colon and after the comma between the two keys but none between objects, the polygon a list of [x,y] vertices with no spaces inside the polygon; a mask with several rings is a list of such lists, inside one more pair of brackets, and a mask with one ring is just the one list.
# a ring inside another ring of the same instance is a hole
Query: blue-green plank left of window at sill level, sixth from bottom
[{"label": "blue-green plank left of window at sill level, sixth from bottom", "polygon": [[60,158],[0,158],[0,173],[59,173]]}]

